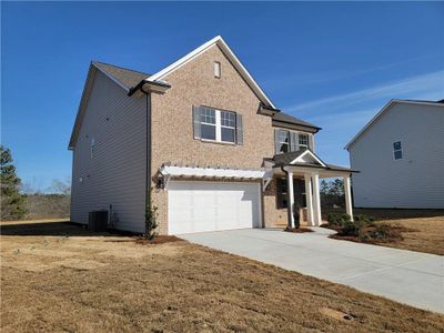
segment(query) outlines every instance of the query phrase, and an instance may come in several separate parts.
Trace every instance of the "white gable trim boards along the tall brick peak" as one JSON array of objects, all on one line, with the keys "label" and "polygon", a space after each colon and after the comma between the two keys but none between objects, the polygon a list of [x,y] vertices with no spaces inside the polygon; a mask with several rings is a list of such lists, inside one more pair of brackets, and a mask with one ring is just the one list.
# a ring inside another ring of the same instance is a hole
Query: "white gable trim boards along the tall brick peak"
[{"label": "white gable trim boards along the tall brick peak", "polygon": [[185,63],[190,62],[191,60],[195,59],[210,48],[214,47],[218,44],[223,53],[231,60],[233,65],[238,69],[238,71],[241,73],[243,79],[249,83],[249,85],[252,88],[252,90],[260,97],[261,101],[264,102],[265,104],[269,104],[273,109],[275,109],[273,102],[266,97],[266,94],[262,91],[262,89],[259,87],[259,84],[254,81],[253,77],[249,73],[249,71],[245,69],[245,67],[241,63],[241,61],[238,59],[238,57],[234,54],[234,52],[230,49],[230,47],[226,44],[226,42],[223,40],[221,36],[216,36],[213,39],[209,40],[208,42],[203,43],[199,48],[194,49],[186,56],[182,57],[178,61],[173,62],[172,64],[165,67],[161,71],[157,72],[155,74],[145,79],[147,81],[161,81],[164,77],[168,74],[172,73],[180,67],[184,65]]}]

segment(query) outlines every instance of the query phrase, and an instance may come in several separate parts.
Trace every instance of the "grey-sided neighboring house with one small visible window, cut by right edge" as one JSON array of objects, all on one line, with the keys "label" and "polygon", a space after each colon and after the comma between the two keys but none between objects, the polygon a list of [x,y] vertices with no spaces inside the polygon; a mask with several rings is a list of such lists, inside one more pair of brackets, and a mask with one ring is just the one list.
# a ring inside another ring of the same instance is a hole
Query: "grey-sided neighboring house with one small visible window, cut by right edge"
[{"label": "grey-sided neighboring house with one small visible window, cut by right edge", "polygon": [[444,100],[392,100],[345,149],[354,206],[444,209]]}]

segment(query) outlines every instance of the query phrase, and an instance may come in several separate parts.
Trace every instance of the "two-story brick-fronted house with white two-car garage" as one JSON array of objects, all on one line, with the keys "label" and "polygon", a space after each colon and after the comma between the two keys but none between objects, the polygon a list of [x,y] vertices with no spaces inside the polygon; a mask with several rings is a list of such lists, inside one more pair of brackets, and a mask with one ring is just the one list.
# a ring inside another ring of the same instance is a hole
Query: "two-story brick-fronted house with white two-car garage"
[{"label": "two-story brick-fronted house with white two-car garage", "polygon": [[151,75],[92,62],[69,143],[71,220],[109,210],[144,232],[151,202],[159,232],[180,234],[292,223],[296,202],[319,225],[320,178],[345,179],[351,213],[351,170],[316,157],[319,130],[278,110],[221,37]]}]

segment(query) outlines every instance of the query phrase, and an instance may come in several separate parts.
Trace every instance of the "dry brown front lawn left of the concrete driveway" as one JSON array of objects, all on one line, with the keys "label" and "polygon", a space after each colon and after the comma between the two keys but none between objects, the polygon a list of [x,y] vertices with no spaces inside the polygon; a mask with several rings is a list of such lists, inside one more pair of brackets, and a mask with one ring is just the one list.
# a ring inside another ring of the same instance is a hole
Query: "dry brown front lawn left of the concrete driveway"
[{"label": "dry brown front lawn left of the concrete driveway", "polygon": [[444,316],[184,241],[2,223],[1,331],[442,332]]}]

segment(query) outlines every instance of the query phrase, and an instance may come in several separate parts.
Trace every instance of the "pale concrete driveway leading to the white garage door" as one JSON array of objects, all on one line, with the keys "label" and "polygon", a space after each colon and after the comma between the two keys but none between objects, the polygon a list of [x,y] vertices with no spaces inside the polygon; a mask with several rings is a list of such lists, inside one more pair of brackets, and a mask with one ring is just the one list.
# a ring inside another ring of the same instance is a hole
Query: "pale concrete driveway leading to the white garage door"
[{"label": "pale concrete driveway leading to the white garage door", "polygon": [[249,229],[180,235],[190,242],[444,313],[444,256],[329,239],[332,231],[292,234]]}]

